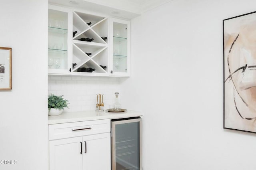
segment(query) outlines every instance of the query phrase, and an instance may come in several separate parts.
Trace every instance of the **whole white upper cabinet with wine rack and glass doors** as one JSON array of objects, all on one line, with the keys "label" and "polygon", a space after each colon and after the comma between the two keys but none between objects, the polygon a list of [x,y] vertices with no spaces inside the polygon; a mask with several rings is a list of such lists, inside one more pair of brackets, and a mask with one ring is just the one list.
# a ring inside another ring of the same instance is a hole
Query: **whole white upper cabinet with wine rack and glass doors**
[{"label": "whole white upper cabinet with wine rack and glass doors", "polygon": [[49,5],[48,74],[130,75],[130,22]]}]

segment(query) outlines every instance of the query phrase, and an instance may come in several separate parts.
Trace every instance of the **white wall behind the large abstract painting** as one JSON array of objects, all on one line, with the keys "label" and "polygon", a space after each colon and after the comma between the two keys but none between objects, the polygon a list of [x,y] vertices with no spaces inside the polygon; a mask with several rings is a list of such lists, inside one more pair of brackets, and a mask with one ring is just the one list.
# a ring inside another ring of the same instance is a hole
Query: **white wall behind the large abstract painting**
[{"label": "white wall behind the large abstract painting", "polygon": [[256,169],[256,135],[223,129],[222,68],[222,20],[255,5],[173,0],[132,20],[121,93],[124,108],[144,112],[143,170]]}]

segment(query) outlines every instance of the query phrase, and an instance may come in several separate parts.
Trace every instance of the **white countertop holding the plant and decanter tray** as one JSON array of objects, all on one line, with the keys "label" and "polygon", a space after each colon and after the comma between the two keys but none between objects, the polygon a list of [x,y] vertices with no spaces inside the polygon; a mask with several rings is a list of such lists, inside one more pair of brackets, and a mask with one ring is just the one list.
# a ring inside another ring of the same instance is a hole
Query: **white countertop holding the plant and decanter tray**
[{"label": "white countertop holding the plant and decanter tray", "polygon": [[79,112],[69,112],[62,113],[58,116],[48,116],[48,125],[58,124],[58,123],[69,123],[69,122],[80,122],[80,121],[93,121],[101,119],[120,119],[126,117],[138,117],[142,116],[142,112],[130,111],[119,113],[111,113],[108,111],[79,111]]}]

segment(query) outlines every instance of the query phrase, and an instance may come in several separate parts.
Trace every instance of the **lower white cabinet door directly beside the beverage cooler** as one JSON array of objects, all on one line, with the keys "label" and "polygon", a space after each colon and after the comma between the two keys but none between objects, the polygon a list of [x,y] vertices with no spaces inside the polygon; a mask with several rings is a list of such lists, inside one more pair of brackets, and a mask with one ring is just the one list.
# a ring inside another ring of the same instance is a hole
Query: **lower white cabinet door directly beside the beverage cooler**
[{"label": "lower white cabinet door directly beside the beverage cooler", "polygon": [[110,170],[110,132],[83,137],[83,170]]}]

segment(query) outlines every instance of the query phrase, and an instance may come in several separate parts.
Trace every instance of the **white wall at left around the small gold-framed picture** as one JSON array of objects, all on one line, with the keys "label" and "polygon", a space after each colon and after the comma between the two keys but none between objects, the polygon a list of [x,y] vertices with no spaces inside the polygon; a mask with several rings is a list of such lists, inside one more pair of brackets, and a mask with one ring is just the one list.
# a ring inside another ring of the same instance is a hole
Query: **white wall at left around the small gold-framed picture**
[{"label": "white wall at left around the small gold-framed picture", "polygon": [[48,168],[47,9],[47,0],[0,2],[0,46],[12,47],[12,90],[0,90],[1,170]]}]

